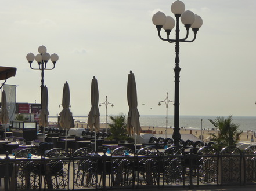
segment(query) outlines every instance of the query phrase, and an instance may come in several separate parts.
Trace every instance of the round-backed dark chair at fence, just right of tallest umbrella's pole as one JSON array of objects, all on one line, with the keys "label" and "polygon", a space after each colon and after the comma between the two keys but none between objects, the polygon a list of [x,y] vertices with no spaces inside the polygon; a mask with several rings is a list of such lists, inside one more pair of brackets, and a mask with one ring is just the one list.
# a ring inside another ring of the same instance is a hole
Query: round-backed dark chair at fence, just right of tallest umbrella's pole
[{"label": "round-backed dark chair at fence, just right of tallest umbrella's pole", "polygon": [[[141,185],[154,185],[159,183],[160,152],[153,147],[146,146],[138,150],[138,183]],[[143,157],[145,156],[145,157]],[[154,156],[154,157],[150,157]]]}]

